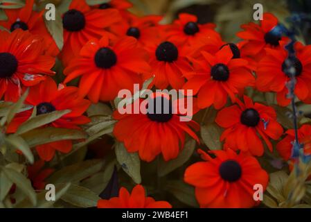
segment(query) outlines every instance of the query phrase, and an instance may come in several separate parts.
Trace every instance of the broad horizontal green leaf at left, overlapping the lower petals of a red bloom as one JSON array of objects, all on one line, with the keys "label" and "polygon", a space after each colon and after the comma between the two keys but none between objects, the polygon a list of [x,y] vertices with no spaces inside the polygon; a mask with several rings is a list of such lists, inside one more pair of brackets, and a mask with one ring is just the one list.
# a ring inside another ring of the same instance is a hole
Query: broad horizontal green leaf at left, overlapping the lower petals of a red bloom
[{"label": "broad horizontal green leaf at left, overlapping the lower petals of a red bloom", "polygon": [[30,147],[48,144],[66,139],[85,139],[87,135],[81,130],[66,128],[37,128],[21,135]]}]

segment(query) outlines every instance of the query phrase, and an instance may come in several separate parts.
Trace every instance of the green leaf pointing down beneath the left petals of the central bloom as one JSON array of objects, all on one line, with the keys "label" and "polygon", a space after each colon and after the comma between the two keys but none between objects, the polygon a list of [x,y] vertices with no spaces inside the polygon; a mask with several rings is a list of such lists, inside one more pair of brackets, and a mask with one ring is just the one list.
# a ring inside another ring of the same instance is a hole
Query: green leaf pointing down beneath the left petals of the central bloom
[{"label": "green leaf pointing down beneath the left petals of the central bloom", "polygon": [[123,143],[116,143],[116,160],[123,171],[130,176],[137,184],[141,183],[141,160],[138,153],[129,153]]}]

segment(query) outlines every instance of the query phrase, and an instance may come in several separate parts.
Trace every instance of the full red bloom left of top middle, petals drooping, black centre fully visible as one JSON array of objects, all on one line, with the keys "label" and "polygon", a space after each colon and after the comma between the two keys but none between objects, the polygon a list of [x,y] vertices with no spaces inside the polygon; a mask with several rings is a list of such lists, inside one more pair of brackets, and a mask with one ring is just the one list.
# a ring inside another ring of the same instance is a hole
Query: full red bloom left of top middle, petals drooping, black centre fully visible
[{"label": "full red bloom left of top middle, petals drooping, black centre fully visible", "polygon": [[116,42],[104,36],[90,40],[80,56],[71,61],[64,74],[64,83],[78,76],[79,92],[93,103],[112,101],[120,89],[133,90],[134,83],[150,78],[148,53],[137,45],[134,37],[123,37]]}]

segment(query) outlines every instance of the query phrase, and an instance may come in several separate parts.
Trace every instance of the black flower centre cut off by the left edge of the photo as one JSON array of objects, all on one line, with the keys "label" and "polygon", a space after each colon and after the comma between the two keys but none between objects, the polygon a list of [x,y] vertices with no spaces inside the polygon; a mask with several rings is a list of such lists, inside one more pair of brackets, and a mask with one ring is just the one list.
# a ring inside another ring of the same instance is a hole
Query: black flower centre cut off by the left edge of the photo
[{"label": "black flower centre cut off by the left edge of the photo", "polygon": [[9,78],[17,71],[18,61],[11,53],[0,53],[0,78]]}]

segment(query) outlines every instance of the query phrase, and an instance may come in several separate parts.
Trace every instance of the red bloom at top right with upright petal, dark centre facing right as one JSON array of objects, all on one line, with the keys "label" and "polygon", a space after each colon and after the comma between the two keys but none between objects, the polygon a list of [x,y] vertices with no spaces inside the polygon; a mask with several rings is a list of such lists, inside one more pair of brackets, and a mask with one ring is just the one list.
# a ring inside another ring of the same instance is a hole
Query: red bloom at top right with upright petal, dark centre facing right
[{"label": "red bloom at top right with upright petal, dark centre facing right", "polygon": [[287,42],[287,37],[282,37],[278,33],[272,32],[278,24],[278,19],[271,13],[264,13],[260,25],[250,22],[241,26],[244,31],[237,33],[242,40],[247,40],[243,46],[243,51],[249,56],[254,56],[258,60],[265,55],[265,48],[276,48],[281,42]]}]

